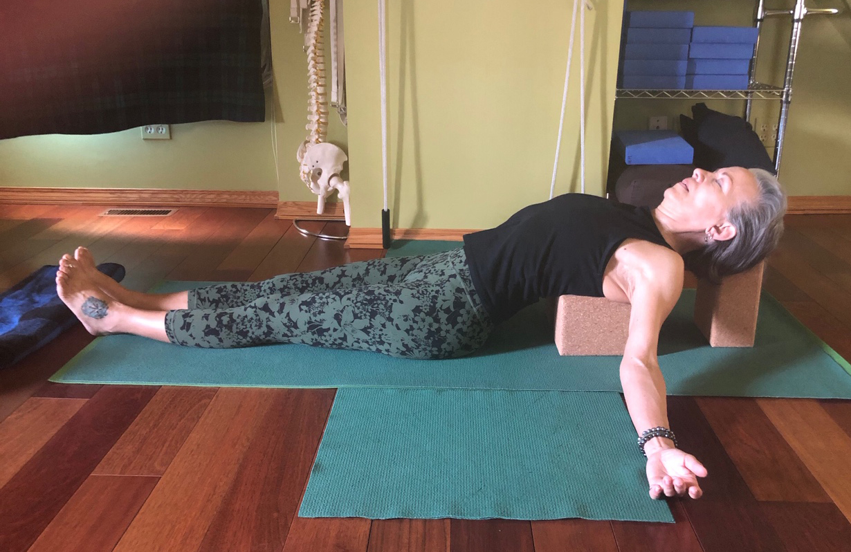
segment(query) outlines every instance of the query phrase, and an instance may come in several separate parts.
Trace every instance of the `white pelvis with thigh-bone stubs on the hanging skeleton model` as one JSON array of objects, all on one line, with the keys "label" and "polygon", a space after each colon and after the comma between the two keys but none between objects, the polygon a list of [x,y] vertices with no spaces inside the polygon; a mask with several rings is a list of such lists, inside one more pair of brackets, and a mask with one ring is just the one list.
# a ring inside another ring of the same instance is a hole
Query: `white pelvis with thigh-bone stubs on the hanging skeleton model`
[{"label": "white pelvis with thigh-bone stubs on the hanging skeleton model", "polygon": [[351,226],[349,212],[349,181],[340,178],[343,164],[348,160],[346,153],[334,144],[303,142],[297,154],[301,163],[300,176],[308,188],[318,197],[317,214],[325,211],[325,198],[337,191],[343,201],[346,225]]}]

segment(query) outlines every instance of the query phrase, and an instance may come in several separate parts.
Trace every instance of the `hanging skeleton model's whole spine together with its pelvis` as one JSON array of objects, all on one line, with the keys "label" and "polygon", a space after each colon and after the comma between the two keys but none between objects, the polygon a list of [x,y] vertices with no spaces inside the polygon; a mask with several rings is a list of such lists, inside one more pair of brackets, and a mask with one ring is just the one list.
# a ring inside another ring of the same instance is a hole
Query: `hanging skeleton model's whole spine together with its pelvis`
[{"label": "hanging skeleton model's whole spine together with its pelvis", "polygon": [[343,163],[348,157],[339,147],[325,142],[328,134],[328,105],[325,94],[325,52],[323,45],[324,0],[312,0],[311,18],[307,28],[307,83],[309,97],[306,130],[307,138],[296,154],[300,162],[300,177],[308,188],[319,196],[317,213],[325,210],[325,198],[337,191],[343,202],[346,225],[351,226],[349,182],[340,178]]}]

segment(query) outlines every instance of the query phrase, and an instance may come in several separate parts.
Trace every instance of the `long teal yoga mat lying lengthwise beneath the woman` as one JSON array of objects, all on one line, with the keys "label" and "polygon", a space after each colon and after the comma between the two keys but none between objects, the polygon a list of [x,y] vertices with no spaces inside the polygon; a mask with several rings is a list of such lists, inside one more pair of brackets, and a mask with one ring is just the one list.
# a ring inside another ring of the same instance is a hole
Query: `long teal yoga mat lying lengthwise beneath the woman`
[{"label": "long teal yoga mat lying lengthwise beneath the woman", "polygon": [[[414,244],[419,245],[419,244]],[[457,243],[450,244],[458,247]],[[428,244],[430,250],[436,248]],[[411,244],[399,252],[415,254]],[[420,249],[421,250],[421,249]],[[397,253],[397,252],[393,252]],[[166,282],[174,291],[203,282]],[[660,367],[671,395],[851,398],[848,364],[763,294],[757,346],[712,348],[692,322],[685,290],[660,335]],[[95,339],[52,381],[257,387],[415,387],[620,390],[617,356],[559,356],[542,304],[500,326],[477,354],[413,361],[377,353],[266,345],[207,350],[130,335]]]}]

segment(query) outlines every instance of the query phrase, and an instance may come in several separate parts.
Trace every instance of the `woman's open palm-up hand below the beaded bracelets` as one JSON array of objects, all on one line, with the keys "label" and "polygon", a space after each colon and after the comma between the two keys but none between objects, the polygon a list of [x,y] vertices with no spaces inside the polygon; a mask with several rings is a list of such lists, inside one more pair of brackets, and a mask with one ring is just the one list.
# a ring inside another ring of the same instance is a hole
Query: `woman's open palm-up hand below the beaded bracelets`
[{"label": "woman's open palm-up hand below the beaded bracelets", "polygon": [[662,448],[647,458],[651,498],[683,497],[687,493],[691,498],[700,498],[703,491],[697,478],[707,473],[697,458],[678,448]]}]

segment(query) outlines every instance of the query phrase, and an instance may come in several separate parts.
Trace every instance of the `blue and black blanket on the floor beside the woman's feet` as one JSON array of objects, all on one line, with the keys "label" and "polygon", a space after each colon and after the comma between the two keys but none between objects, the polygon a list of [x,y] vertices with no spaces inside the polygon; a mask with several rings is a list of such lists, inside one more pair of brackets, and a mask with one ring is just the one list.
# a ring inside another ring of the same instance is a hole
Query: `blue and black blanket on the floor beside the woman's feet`
[{"label": "blue and black blanket on the floor beside the woman's feet", "polygon": [[[48,344],[77,322],[56,294],[56,270],[56,265],[43,266],[0,293],[0,370]],[[104,263],[98,270],[116,282],[124,279],[122,265]]]}]

